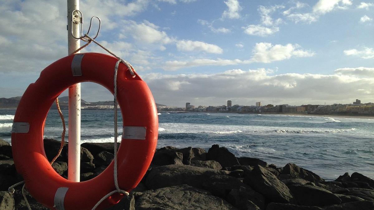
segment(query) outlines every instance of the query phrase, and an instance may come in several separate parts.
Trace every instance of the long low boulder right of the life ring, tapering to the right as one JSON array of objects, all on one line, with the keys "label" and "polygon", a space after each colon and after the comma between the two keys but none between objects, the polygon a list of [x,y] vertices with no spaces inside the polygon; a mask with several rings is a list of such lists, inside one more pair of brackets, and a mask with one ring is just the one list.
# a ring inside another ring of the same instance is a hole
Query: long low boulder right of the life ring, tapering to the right
[{"label": "long low boulder right of the life ring, tapering to the right", "polygon": [[174,185],[190,185],[201,188],[203,182],[213,175],[227,175],[229,172],[187,165],[154,167],[148,174],[145,185],[157,189]]}]

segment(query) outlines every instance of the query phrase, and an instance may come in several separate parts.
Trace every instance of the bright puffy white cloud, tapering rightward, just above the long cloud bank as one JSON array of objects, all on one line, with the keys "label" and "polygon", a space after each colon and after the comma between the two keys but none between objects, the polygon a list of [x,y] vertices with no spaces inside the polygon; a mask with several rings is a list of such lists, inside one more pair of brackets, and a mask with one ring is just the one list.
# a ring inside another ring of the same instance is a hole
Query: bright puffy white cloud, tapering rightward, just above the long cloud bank
[{"label": "bright puffy white cloud, tapering rightward, just above the long cloud bank", "polygon": [[273,61],[281,61],[290,59],[291,57],[310,57],[315,53],[305,50],[298,50],[300,46],[298,44],[275,44],[272,43],[256,43],[253,50],[253,56],[251,61],[270,63]]}]

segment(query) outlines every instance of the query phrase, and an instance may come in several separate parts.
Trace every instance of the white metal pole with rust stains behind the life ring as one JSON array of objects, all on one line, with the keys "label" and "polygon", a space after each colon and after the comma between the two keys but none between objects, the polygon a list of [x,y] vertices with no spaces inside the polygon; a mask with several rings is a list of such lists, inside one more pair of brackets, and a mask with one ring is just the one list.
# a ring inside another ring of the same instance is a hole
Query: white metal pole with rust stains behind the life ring
[{"label": "white metal pole with rust stains behind the life ring", "polygon": [[[71,28],[71,13],[79,10],[79,0],[67,0],[68,10],[68,53],[73,53],[80,47],[79,24]],[[78,52],[79,53],[79,52]],[[69,87],[69,143],[68,143],[68,180],[80,181],[80,83]]]}]

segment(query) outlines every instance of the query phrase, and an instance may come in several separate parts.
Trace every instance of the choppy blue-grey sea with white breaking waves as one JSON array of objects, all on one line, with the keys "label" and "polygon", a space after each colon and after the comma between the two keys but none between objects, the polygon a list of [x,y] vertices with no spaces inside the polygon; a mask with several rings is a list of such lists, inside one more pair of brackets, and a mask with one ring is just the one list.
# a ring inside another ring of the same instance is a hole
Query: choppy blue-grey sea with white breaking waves
[{"label": "choppy blue-grey sea with white breaking waves", "polygon": [[[68,123],[67,111],[63,113]],[[0,138],[8,142],[14,114],[12,109],[0,110]],[[82,110],[82,143],[113,142],[113,114],[113,111]],[[260,158],[278,167],[295,163],[328,180],[345,172],[374,178],[373,119],[175,112],[163,112],[158,117],[157,148],[192,146],[207,150],[218,144],[237,157]],[[121,135],[120,113],[118,129]],[[61,139],[61,132],[58,112],[50,110],[44,137]]]}]

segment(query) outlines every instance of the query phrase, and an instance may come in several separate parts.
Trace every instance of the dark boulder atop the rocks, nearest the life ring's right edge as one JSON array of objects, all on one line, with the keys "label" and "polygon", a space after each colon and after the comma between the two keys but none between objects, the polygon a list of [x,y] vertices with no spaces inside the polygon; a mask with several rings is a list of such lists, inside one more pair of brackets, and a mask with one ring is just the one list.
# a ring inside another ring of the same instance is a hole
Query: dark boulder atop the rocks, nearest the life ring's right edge
[{"label": "dark boulder atop the rocks, nearest the life ring's right edge", "polygon": [[158,150],[154,153],[152,164],[157,166],[183,164],[183,154],[175,149]]}]

